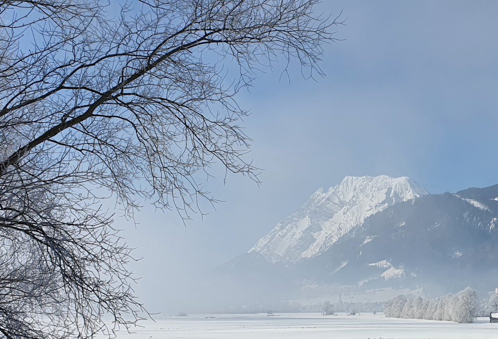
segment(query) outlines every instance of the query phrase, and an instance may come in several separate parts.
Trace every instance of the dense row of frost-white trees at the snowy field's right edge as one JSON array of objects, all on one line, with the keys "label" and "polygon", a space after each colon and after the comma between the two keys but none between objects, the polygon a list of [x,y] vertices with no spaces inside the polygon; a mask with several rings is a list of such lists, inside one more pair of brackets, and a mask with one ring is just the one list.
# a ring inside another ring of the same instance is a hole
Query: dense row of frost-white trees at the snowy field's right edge
[{"label": "dense row of frost-white trees at the snowy field's right edge", "polygon": [[470,287],[435,299],[407,299],[399,295],[385,303],[384,315],[392,318],[446,320],[472,323],[477,316],[477,292]]}]

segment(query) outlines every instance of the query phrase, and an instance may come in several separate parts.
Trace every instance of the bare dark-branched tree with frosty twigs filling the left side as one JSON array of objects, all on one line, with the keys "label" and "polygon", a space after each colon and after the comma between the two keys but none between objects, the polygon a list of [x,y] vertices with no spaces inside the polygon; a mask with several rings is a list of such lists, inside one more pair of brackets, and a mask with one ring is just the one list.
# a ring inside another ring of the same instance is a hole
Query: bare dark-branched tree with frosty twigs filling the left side
[{"label": "bare dark-branched tree with frosty twigs filling the left side", "polygon": [[199,171],[257,180],[235,95],[278,59],[322,75],[340,22],[317,3],[0,2],[4,338],[112,335],[103,315],[140,319],[130,249],[102,198],[131,217],[148,200],[189,218],[199,197],[215,201]]}]

